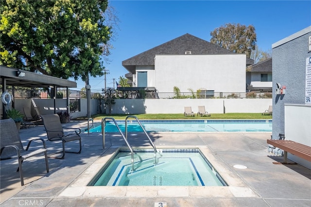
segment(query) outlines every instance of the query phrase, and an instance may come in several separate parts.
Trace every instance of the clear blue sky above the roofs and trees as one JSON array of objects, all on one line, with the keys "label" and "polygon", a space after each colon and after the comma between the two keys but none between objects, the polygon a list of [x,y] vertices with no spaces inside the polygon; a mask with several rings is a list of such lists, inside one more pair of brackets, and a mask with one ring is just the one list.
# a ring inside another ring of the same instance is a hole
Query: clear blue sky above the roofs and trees
[{"label": "clear blue sky above the roofs and trees", "polygon": [[[210,41],[210,32],[226,23],[253,25],[260,50],[311,25],[311,0],[110,0],[120,22],[106,86],[128,72],[122,61],[189,33]],[[104,88],[104,76],[90,77],[92,92]],[[77,89],[85,87],[77,81]],[[116,86],[115,86],[116,87]],[[72,88],[73,89],[73,88]]]}]

